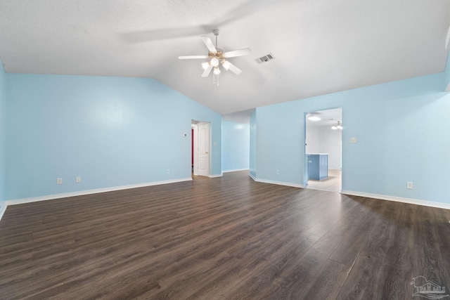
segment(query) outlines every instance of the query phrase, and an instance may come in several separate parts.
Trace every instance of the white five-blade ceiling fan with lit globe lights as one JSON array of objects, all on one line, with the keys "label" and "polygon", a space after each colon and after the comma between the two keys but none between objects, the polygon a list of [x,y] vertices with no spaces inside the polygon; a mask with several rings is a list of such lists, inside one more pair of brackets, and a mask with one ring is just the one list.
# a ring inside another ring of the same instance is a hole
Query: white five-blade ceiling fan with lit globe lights
[{"label": "white five-blade ceiling fan with lit globe lights", "polygon": [[234,58],[236,56],[246,56],[252,53],[250,48],[224,52],[221,48],[217,48],[217,36],[219,35],[219,30],[218,29],[212,30],[212,33],[214,33],[214,35],[216,36],[216,46],[212,44],[212,41],[209,37],[205,36],[202,37],[203,42],[205,43],[205,45],[209,50],[207,56],[179,56],[178,58],[181,60],[210,59],[207,62],[202,63],[202,67],[205,70],[203,71],[202,77],[207,77],[210,74],[211,70],[213,69],[214,69],[213,74],[219,75],[220,74],[219,65],[222,65],[222,67],[224,67],[225,70],[231,70],[231,72],[233,72],[236,75],[242,73],[242,71],[238,67],[236,67],[236,65],[230,63],[227,60],[227,58]]}]

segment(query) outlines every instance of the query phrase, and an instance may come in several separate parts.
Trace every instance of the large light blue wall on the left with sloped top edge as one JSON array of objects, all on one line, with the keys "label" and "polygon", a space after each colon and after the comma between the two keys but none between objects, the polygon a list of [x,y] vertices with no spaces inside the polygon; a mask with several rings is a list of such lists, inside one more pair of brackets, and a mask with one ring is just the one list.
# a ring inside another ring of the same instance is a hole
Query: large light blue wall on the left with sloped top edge
[{"label": "large light blue wall on the left with sloped top edge", "polygon": [[190,178],[191,119],[211,122],[210,174],[221,174],[221,116],[158,81],[6,74],[6,83],[7,200]]}]

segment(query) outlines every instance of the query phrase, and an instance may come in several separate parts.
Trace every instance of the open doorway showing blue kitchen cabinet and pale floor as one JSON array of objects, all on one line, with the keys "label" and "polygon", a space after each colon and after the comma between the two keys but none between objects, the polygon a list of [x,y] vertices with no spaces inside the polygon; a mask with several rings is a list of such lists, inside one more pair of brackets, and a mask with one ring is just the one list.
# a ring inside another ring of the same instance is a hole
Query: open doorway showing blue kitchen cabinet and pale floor
[{"label": "open doorway showing blue kitchen cabinet and pale floor", "polygon": [[305,121],[305,186],[342,188],[342,108],[309,112]]}]

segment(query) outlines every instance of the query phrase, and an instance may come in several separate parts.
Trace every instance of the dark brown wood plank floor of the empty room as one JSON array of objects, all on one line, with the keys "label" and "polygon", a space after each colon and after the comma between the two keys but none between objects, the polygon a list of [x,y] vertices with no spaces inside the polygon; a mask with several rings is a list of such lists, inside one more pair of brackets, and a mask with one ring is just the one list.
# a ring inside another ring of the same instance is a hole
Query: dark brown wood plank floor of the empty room
[{"label": "dark brown wood plank floor of the empty room", "polygon": [[421,299],[419,275],[450,288],[449,221],[248,171],[20,204],[0,221],[0,298]]}]

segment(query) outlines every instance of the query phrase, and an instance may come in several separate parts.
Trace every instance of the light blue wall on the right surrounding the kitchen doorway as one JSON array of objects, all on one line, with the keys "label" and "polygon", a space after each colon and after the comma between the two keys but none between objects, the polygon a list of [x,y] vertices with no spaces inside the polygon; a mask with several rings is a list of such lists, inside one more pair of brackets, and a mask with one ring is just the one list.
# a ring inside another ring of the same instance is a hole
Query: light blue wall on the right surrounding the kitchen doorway
[{"label": "light blue wall on the right surrounding the kitchen doorway", "polygon": [[443,76],[257,108],[257,178],[303,184],[304,114],[342,107],[342,190],[450,203],[450,93],[442,91]]}]

